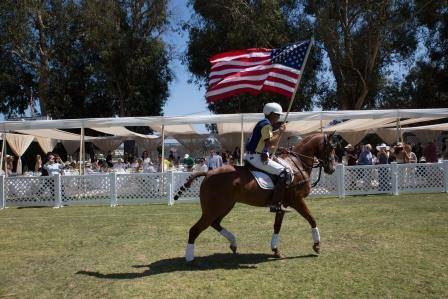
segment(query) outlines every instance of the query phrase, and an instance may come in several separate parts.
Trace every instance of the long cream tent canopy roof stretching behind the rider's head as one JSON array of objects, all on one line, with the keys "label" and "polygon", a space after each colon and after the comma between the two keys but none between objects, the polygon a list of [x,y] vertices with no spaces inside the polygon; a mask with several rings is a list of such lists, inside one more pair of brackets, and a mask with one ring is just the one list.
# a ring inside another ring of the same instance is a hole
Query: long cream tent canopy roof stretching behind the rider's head
[{"label": "long cream tent canopy roof stretching behind the rider's head", "polygon": [[[93,137],[85,137],[84,134],[77,135],[64,132],[58,129],[92,128],[103,133],[113,135],[111,138],[131,137],[140,138],[140,140],[158,138],[158,136],[149,136],[132,132],[127,126],[150,126],[156,131],[162,133],[162,146],[165,135],[178,139],[205,138],[198,134],[191,126],[193,124],[217,124],[221,136],[233,133],[232,138],[239,136],[240,144],[247,138],[248,132],[254,124],[263,117],[261,113],[248,114],[221,114],[221,115],[192,115],[183,117],[123,117],[123,118],[87,118],[87,119],[65,119],[65,120],[35,120],[35,121],[3,121],[0,122],[0,130],[3,132],[20,132],[31,136],[42,138],[51,138],[62,140],[64,143],[71,143],[72,150],[83,147],[84,140],[95,140]],[[343,121],[335,126],[325,127],[324,131],[337,131],[345,134],[345,138],[356,140],[360,134],[374,132],[375,129],[391,127],[397,125],[406,125],[411,123],[424,122],[448,118],[448,108],[440,109],[396,109],[396,110],[353,110],[353,111],[310,111],[310,112],[291,112],[288,117],[287,132],[308,134],[318,131],[321,126],[327,126],[330,121]],[[402,120],[404,119],[404,120]],[[448,130],[448,125],[432,125],[417,128],[402,128],[403,131],[443,131]],[[241,130],[242,127],[242,130]],[[246,132],[246,136],[244,136]],[[384,131],[387,132],[387,131]],[[414,133],[415,134],[415,133]],[[420,134],[420,133],[417,133]],[[350,135],[350,137],[349,137]],[[353,136],[352,136],[353,135]],[[391,135],[391,133],[389,133]],[[194,137],[193,137],[194,136]],[[228,135],[230,136],[230,135]],[[390,137],[390,136],[389,136]],[[115,141],[118,139],[114,139]],[[154,144],[158,144],[155,139]],[[50,148],[54,142],[48,143],[44,147]],[[101,141],[100,141],[101,142]],[[118,141],[116,141],[118,142]],[[116,143],[113,142],[113,143]],[[78,145],[76,145],[76,143]],[[190,142],[191,143],[191,142]]]}]

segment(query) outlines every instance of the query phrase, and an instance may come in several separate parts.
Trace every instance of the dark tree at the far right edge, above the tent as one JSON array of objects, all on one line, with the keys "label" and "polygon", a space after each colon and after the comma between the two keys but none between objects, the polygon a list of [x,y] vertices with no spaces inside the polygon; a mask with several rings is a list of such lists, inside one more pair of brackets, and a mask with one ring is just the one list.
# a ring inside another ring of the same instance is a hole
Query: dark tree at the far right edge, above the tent
[{"label": "dark tree at the far right edge, above the tent", "polygon": [[[426,55],[403,82],[391,82],[380,97],[384,108],[448,107],[448,4],[417,0],[416,21]],[[422,51],[421,51],[422,52]]]}]

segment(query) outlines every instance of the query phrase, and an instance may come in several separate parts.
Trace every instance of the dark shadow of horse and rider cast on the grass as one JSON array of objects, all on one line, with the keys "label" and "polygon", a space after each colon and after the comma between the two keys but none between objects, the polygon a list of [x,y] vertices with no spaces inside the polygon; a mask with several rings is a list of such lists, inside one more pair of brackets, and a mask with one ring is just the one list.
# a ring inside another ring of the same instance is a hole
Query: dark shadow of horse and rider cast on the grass
[{"label": "dark shadow of horse and rider cast on the grass", "polygon": [[187,264],[185,258],[170,258],[156,261],[149,265],[134,265],[133,268],[149,268],[143,272],[100,273],[95,271],[78,271],[76,274],[105,279],[134,279],[146,276],[179,271],[206,271],[215,269],[256,269],[257,264],[290,260],[298,258],[313,258],[314,254],[275,258],[272,254],[232,254],[219,253],[210,256],[196,257],[193,263]]}]

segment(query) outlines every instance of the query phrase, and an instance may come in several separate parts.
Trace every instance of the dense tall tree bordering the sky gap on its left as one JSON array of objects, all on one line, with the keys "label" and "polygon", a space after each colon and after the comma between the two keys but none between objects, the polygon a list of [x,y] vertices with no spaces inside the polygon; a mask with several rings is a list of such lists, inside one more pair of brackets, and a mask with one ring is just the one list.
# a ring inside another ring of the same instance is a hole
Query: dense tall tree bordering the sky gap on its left
[{"label": "dense tall tree bordering the sky gap on its left", "polygon": [[[120,116],[160,115],[172,80],[160,36],[167,1],[85,1],[86,43],[99,55],[99,78]],[[98,12],[101,12],[98,14]]]}]

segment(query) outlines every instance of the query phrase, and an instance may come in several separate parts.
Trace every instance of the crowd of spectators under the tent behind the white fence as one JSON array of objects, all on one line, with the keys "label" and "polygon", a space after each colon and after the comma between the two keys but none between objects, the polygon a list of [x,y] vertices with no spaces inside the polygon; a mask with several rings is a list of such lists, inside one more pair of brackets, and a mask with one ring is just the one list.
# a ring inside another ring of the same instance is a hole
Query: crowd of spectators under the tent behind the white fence
[{"label": "crowd of spectators under the tent behind the white fence", "polygon": [[[401,142],[393,146],[381,143],[375,147],[370,144],[358,144],[353,146],[348,144],[345,147],[338,146],[336,149],[336,159],[339,163],[347,166],[353,165],[376,165],[390,164],[391,162],[401,163],[435,163],[448,160],[448,138],[443,141],[442,147],[438,151],[434,142],[422,144],[404,144]],[[95,173],[154,173],[161,172],[162,165],[165,171],[188,171],[205,172],[223,165],[236,165],[240,160],[240,148],[235,147],[233,151],[223,150],[218,152],[211,149],[206,157],[192,157],[185,154],[182,157],[175,156],[173,151],[162,161],[159,155],[154,161],[149,157],[147,151],[141,157],[134,158],[125,154],[122,158],[113,159],[111,152],[107,155],[99,155],[95,159],[85,162],[85,174]],[[13,174],[14,156],[6,155],[1,173]],[[48,153],[43,158],[40,155],[35,157],[34,175],[62,175],[79,174],[80,165],[78,161],[63,162],[57,153]]]}]

